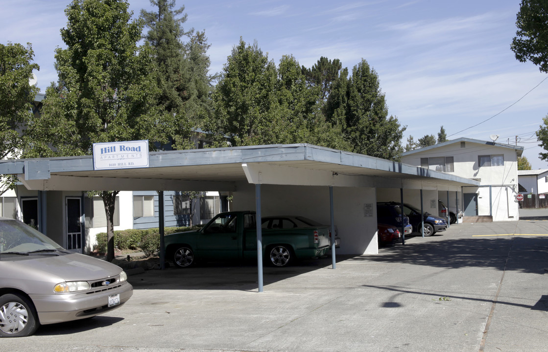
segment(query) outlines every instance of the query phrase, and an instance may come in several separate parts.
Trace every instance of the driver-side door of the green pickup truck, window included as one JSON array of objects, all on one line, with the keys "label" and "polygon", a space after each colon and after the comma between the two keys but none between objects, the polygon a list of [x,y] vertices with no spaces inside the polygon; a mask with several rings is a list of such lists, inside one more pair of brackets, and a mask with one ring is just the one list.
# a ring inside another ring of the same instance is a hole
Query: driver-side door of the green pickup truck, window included
[{"label": "driver-side door of the green pickup truck, window included", "polygon": [[198,237],[198,255],[211,261],[238,259],[237,222],[236,214],[219,214]]}]

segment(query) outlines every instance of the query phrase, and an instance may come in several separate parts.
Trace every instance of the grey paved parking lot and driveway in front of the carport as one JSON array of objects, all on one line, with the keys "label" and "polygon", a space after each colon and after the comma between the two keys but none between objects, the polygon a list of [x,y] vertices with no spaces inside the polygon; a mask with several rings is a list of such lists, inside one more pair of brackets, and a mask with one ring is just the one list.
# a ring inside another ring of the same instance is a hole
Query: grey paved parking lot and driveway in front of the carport
[{"label": "grey paved parking lot and driveway in front of the carport", "polygon": [[[527,216],[528,215],[528,216]],[[149,270],[107,315],[2,351],[546,351],[548,210],[458,224],[375,256]]]}]

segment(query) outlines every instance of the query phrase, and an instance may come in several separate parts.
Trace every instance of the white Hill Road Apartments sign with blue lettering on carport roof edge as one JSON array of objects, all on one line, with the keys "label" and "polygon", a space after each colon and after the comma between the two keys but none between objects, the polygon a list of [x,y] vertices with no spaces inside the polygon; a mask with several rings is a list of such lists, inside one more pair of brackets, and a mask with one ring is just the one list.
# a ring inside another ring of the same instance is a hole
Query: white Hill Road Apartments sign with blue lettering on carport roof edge
[{"label": "white Hill Road Apartments sign with blue lettering on carport roof edge", "polygon": [[93,169],[149,167],[149,141],[93,143]]}]

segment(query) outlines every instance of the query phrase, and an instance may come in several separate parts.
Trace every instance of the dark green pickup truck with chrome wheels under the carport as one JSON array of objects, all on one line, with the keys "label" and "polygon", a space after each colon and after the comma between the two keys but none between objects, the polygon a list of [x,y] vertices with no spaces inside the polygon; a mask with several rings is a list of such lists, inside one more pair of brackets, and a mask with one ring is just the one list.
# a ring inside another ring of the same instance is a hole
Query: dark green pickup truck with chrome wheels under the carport
[{"label": "dark green pickup truck with chrome wheels under the carport", "polygon": [[[166,258],[180,268],[191,267],[197,260],[256,260],[255,212],[220,213],[198,231],[166,235],[164,245]],[[262,253],[271,266],[285,267],[294,259],[321,257],[328,250],[327,226],[262,229]]]}]

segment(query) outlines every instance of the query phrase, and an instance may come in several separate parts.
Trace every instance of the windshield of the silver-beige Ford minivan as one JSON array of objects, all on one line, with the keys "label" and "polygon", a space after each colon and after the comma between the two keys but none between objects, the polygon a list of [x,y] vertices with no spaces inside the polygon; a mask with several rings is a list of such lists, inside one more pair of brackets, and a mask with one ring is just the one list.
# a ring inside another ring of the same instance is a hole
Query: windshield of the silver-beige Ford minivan
[{"label": "windshield of the silver-beige Ford minivan", "polygon": [[52,239],[18,220],[0,219],[0,255],[64,251]]}]

